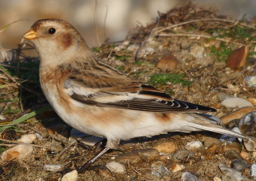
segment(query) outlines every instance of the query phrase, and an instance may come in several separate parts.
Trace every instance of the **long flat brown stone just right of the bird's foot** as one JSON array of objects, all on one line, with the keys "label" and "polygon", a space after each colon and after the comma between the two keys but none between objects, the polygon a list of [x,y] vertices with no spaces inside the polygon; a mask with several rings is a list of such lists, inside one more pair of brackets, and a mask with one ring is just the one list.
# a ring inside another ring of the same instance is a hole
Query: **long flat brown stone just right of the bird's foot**
[{"label": "long flat brown stone just right of the bird's foot", "polygon": [[148,149],[138,149],[134,150],[132,153],[121,153],[115,157],[115,161],[126,163],[138,163],[141,160],[140,154],[145,156],[149,161],[157,158],[159,156],[159,152],[157,149],[148,148]]}]

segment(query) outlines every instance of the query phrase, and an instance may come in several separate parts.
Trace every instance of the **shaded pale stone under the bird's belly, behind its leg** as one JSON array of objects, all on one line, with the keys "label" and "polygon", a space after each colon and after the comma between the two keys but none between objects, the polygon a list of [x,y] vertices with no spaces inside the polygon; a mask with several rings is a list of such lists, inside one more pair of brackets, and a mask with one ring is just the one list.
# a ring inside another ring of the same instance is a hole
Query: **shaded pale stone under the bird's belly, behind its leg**
[{"label": "shaded pale stone under the bird's belly, behind its leg", "polygon": [[[88,136],[88,137],[82,138],[85,136]],[[75,128],[72,128],[72,130],[70,131],[70,136],[68,138],[68,143],[71,143],[75,139],[81,141],[82,143],[84,143],[84,145],[94,146],[105,138],[91,136],[91,135],[82,133],[81,131],[78,131]]]}]

